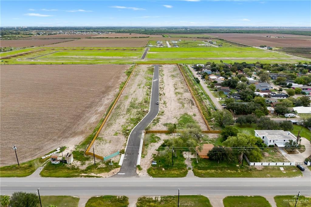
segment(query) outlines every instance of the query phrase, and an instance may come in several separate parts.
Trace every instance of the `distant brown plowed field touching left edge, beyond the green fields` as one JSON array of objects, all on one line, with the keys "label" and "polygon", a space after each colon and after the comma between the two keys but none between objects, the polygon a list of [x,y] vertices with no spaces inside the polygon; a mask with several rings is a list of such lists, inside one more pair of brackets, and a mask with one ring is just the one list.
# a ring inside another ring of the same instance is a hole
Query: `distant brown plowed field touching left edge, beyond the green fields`
[{"label": "distant brown plowed field touching left edge, beyond the green fields", "polygon": [[41,45],[51,45],[59,42],[67,42],[74,39],[47,39],[47,40],[1,40],[0,47],[31,47]]}]

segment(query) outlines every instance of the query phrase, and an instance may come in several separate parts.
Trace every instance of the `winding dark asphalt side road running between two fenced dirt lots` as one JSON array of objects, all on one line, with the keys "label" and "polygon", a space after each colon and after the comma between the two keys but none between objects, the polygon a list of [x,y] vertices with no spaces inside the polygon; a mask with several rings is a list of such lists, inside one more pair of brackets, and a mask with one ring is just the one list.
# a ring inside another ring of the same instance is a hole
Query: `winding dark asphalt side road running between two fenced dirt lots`
[{"label": "winding dark asphalt side road running between two fenced dirt lots", "polygon": [[134,127],[128,136],[128,144],[125,150],[125,156],[120,172],[116,177],[137,177],[136,164],[139,156],[139,146],[141,142],[142,132],[156,118],[159,113],[159,65],[154,65],[150,108],[148,114]]}]

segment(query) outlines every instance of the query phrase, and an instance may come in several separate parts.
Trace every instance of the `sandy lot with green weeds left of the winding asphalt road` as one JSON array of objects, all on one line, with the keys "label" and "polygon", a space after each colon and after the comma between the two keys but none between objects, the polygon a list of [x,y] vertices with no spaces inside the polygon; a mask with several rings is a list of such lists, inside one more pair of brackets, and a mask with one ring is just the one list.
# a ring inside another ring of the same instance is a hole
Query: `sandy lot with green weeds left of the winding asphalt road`
[{"label": "sandy lot with green weeds left of the winding asphalt road", "polygon": [[[102,157],[125,148],[128,135],[149,111],[153,66],[137,65],[93,146]],[[119,156],[113,158],[118,161]]]}]

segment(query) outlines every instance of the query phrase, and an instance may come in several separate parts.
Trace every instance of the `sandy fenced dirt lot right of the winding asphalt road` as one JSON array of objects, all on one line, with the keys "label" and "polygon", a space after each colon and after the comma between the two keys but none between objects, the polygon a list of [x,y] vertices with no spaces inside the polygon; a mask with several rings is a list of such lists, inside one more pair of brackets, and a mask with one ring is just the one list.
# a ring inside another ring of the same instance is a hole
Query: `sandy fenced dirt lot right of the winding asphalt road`
[{"label": "sandy fenced dirt lot right of the winding asphalt road", "polygon": [[[177,65],[160,67],[160,113],[159,122],[151,124],[151,130],[166,130],[165,123],[177,123],[178,118],[187,113],[193,115],[202,130],[207,126],[192,98]],[[154,122],[153,122],[154,123]]]}]

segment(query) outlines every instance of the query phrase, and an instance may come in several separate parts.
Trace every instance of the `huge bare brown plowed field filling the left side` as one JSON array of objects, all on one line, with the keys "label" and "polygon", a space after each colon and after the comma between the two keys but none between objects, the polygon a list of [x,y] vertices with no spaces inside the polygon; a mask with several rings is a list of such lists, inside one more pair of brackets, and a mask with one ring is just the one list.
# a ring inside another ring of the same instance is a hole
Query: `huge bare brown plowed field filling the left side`
[{"label": "huge bare brown plowed field filling the left side", "polygon": [[32,160],[89,135],[130,65],[2,65],[1,165]]}]

